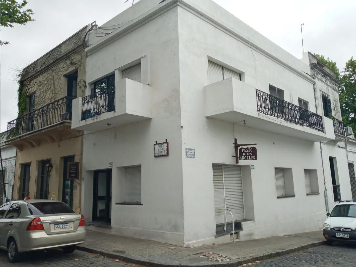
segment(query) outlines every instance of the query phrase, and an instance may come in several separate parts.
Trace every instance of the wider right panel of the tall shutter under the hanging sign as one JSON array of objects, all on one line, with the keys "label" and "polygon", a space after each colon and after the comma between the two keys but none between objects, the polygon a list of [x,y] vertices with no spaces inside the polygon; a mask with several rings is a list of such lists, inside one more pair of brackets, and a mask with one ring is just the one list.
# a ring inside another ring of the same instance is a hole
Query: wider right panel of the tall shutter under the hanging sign
[{"label": "wider right panel of the tall shutter under the hanging sign", "polygon": [[[244,197],[242,195],[242,176],[240,166],[223,166],[226,209],[230,210],[234,220],[244,220]],[[226,212],[226,221],[232,221]]]}]

